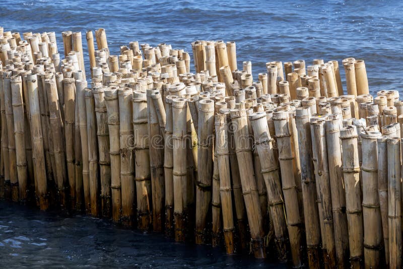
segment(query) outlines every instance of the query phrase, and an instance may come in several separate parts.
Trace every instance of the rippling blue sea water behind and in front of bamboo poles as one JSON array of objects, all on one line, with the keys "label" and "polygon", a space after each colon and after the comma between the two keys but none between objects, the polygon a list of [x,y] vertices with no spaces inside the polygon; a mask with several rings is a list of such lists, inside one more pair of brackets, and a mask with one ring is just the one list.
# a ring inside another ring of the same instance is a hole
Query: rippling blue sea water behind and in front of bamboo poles
[{"label": "rippling blue sea water behind and in front of bamboo poles", "polygon": [[[0,26],[12,32],[105,28],[111,54],[130,41],[172,44],[236,41],[238,66],[254,77],[267,61],[364,59],[370,92],[400,90],[401,1],[20,1],[0,2]],[[87,45],[84,40],[84,50]],[[88,55],[85,55],[88,65]],[[344,71],[341,69],[342,80]],[[344,84],[345,87],[345,84]],[[63,218],[0,202],[2,266],[280,266],[226,256],[219,249],[175,244],[161,235],[121,230],[102,220]]]}]

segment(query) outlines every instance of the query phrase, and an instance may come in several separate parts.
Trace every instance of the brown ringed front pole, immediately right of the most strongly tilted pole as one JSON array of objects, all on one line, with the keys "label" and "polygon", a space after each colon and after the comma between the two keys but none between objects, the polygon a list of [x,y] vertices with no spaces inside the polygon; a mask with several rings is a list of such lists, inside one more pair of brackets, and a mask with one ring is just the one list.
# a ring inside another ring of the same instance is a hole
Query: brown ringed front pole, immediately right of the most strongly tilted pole
[{"label": "brown ringed front pole, immediately right of the most strongly tilted pole", "polygon": [[297,185],[294,178],[292,151],[292,138],[289,129],[289,113],[287,110],[275,112],[273,120],[276,128],[277,144],[279,147],[279,161],[282,175],[282,187],[284,193],[285,207],[287,213],[287,227],[290,237],[291,253],[293,265],[300,266],[302,263],[301,257],[301,215],[298,205]]}]

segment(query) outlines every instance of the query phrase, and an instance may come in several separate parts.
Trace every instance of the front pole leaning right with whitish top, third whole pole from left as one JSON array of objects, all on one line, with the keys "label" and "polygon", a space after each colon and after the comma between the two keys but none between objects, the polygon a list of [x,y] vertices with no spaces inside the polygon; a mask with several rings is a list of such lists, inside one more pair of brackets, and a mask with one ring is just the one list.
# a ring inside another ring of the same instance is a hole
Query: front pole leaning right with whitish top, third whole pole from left
[{"label": "front pole leaning right with whitish top, third whole pole from left", "polygon": [[[35,74],[27,75],[27,92],[29,99],[29,114],[31,118],[32,155],[37,186],[36,193],[41,210],[49,207],[45,155],[42,138],[41,114],[39,110],[38,79]],[[4,126],[2,126],[4,128]],[[3,137],[3,136],[2,136]],[[5,162],[6,165],[6,162]]]}]

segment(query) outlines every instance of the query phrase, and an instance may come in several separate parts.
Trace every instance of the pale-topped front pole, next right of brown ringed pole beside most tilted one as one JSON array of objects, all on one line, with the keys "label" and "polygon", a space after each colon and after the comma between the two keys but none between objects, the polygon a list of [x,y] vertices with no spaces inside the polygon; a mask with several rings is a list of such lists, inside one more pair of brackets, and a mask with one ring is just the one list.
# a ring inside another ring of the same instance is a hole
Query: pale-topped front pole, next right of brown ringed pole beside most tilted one
[{"label": "pale-topped front pole, next right of brown ringed pole beside most tilted one", "polygon": [[[297,108],[295,114],[300,150],[301,183],[305,216],[305,234],[308,264],[310,268],[320,268],[319,245],[320,227],[318,207],[316,206],[316,180],[312,160],[312,141],[309,125],[310,109]],[[281,187],[281,186],[279,186]],[[273,216],[273,213],[272,213]]]}]

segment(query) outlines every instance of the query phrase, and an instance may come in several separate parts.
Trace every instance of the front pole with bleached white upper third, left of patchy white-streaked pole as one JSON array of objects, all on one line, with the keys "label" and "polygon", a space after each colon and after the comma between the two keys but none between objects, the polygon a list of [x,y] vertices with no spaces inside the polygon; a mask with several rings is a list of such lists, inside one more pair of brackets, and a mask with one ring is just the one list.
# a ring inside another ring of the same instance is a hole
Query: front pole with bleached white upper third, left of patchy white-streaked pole
[{"label": "front pole with bleached white upper third, left of patchy white-streaked pole", "polygon": [[331,206],[334,220],[335,250],[338,266],[345,267],[349,257],[346,192],[342,168],[342,145],[340,142],[340,115],[330,114],[325,121],[327,161],[329,167]]}]

